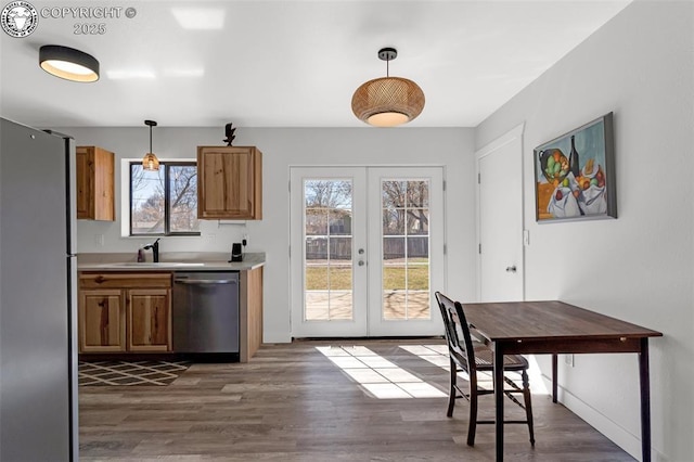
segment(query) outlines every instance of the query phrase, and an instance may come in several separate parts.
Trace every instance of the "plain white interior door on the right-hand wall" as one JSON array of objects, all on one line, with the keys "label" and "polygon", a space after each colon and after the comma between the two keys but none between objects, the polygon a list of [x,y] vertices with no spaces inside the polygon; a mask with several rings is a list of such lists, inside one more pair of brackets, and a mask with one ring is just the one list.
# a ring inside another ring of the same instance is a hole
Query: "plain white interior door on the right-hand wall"
[{"label": "plain white interior door on the right-hand wall", "polygon": [[479,300],[524,299],[523,126],[477,152]]}]

